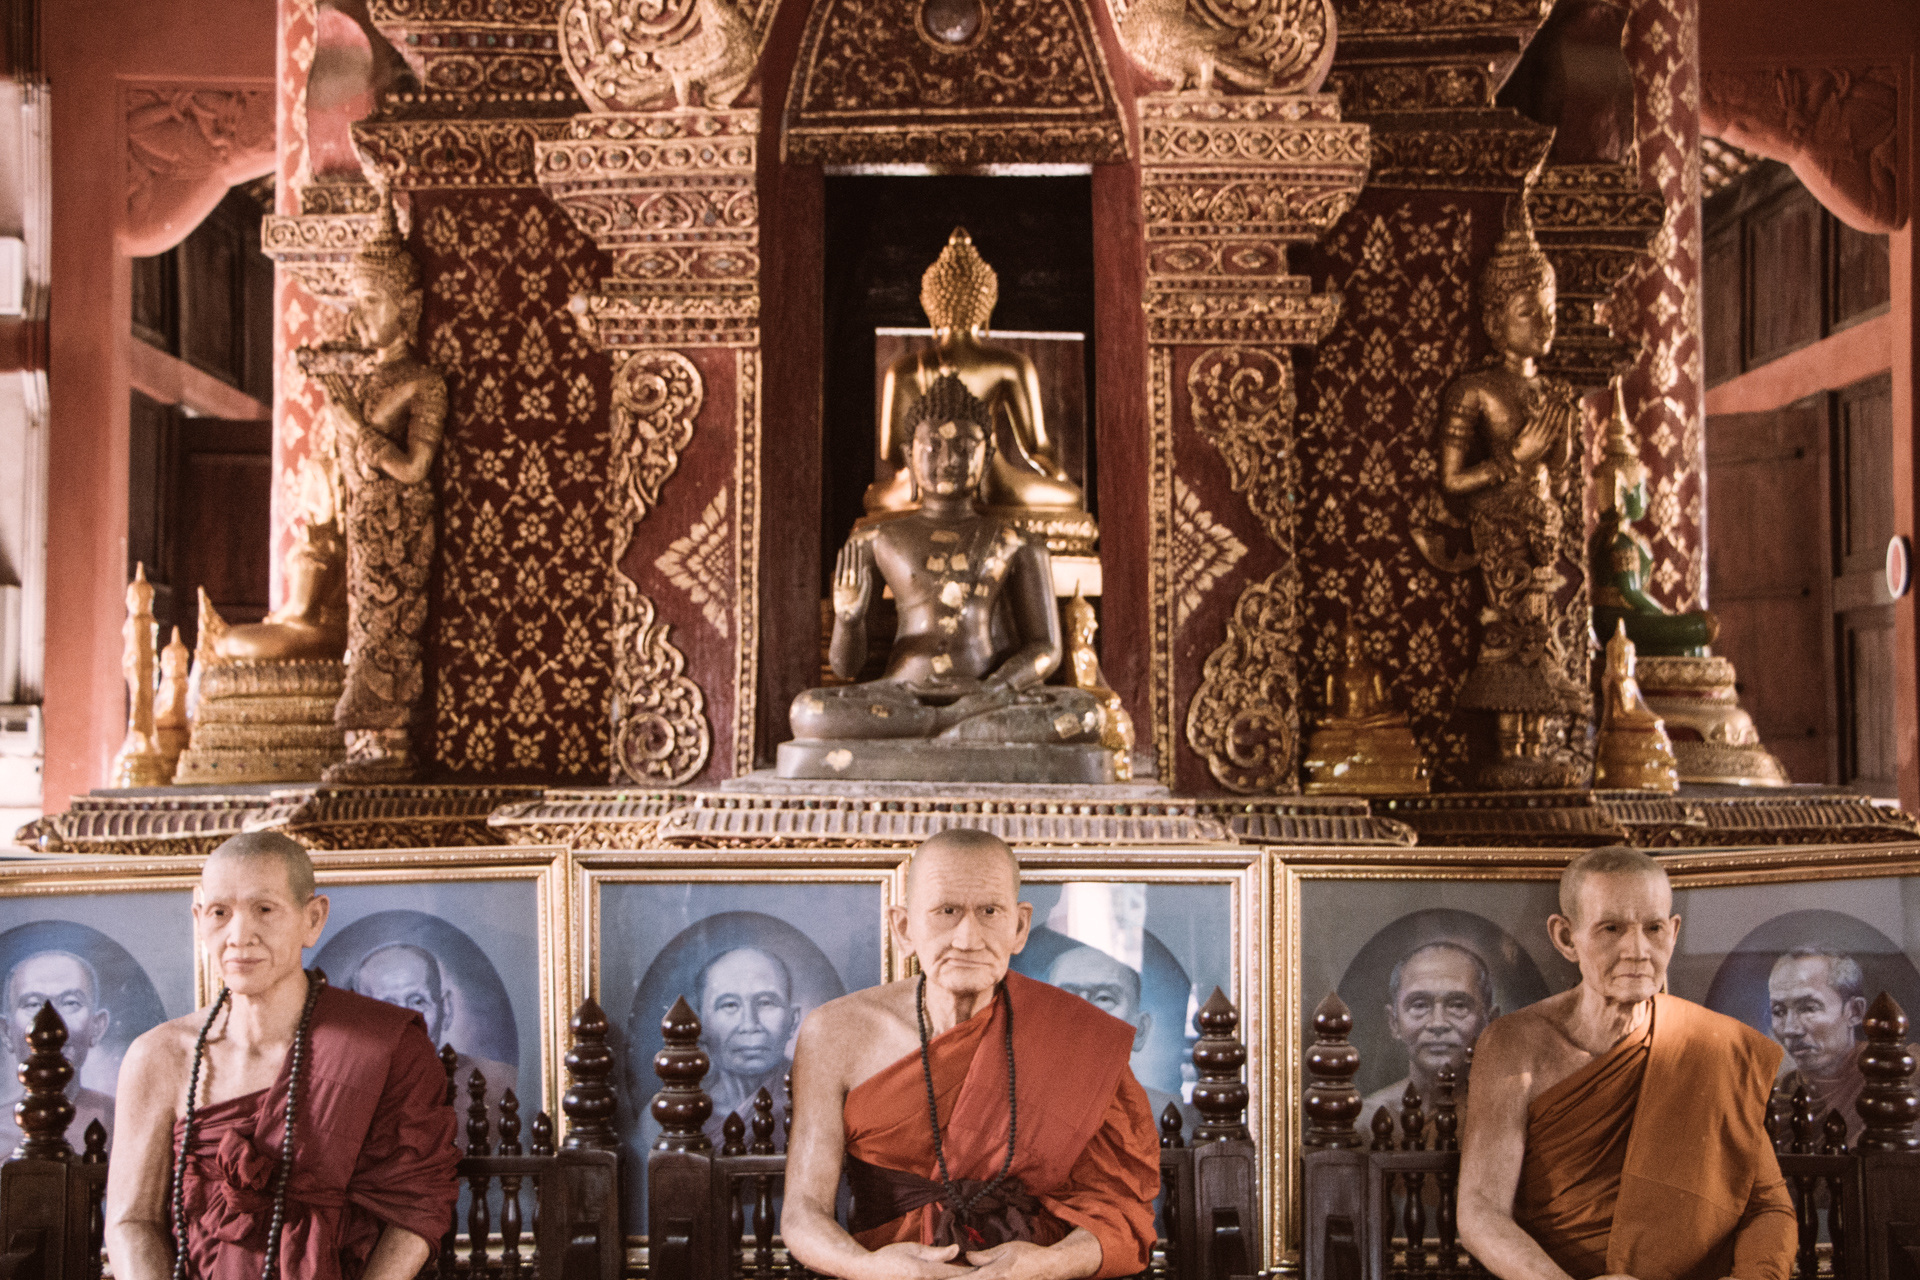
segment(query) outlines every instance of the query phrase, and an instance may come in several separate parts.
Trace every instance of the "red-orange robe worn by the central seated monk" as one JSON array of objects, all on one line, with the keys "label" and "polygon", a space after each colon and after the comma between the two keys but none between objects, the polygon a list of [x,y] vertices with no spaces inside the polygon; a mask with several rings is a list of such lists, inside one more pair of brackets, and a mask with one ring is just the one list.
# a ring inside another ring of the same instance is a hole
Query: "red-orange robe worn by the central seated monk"
[{"label": "red-orange robe worn by the central seated monk", "polygon": [[[1010,1176],[1039,1201],[1031,1238],[1056,1244],[1083,1226],[1100,1242],[1096,1280],[1139,1274],[1154,1249],[1160,1132],[1127,1067],[1133,1027],[1079,996],[1008,973],[987,1009],[933,1038],[927,1061],[947,1173],[983,1182],[1006,1161],[1008,1002],[1020,1111]],[[851,1161],[939,1180],[920,1050],[849,1090],[845,1123]],[[868,1249],[933,1244],[939,1217],[935,1201],[862,1224],[854,1194],[854,1238]]]}]

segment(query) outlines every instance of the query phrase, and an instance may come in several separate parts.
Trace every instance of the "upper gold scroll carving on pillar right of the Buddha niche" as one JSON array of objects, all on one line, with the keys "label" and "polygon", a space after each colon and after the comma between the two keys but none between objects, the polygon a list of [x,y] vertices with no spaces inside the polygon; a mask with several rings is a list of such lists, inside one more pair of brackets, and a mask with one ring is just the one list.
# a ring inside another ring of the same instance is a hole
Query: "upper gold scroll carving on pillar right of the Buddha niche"
[{"label": "upper gold scroll carving on pillar right of the Buddha niche", "polygon": [[1213,347],[1187,370],[1187,391],[1194,430],[1227,461],[1235,491],[1273,545],[1292,549],[1292,363],[1256,347]]}]

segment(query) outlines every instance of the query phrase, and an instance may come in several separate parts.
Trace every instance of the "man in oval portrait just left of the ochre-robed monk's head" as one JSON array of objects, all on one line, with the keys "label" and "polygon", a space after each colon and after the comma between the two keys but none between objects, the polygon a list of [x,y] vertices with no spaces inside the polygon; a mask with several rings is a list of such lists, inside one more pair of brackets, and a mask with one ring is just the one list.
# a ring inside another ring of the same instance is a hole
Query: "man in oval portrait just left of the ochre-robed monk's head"
[{"label": "man in oval portrait just left of the ochre-robed monk's head", "polygon": [[1496,1017],[1494,975],[1478,952],[1459,942],[1428,942],[1407,952],[1386,977],[1386,1031],[1407,1048],[1407,1075],[1367,1094],[1361,1125],[1380,1107],[1398,1125],[1407,1084],[1421,1092],[1421,1109],[1430,1113],[1442,1067],[1453,1069],[1453,1102],[1463,1105],[1467,1050]]}]

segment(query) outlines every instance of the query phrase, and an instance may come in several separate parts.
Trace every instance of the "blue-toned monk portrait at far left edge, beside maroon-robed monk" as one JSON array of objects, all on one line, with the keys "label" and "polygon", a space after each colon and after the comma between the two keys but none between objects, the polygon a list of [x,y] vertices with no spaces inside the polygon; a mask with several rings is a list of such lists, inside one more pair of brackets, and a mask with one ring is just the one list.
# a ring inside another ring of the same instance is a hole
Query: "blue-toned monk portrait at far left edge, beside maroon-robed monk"
[{"label": "blue-toned monk portrait at far left edge, beside maroon-robed monk", "polygon": [[[84,921],[84,923],[83,923]],[[194,1011],[192,890],[35,894],[0,898],[0,1150],[19,1142],[13,1067],[27,1055],[27,1031],[52,1002],[67,1023],[75,1067],[73,1125],[81,1148],[92,1121],[113,1132],[113,1092],[134,1036]]]}]

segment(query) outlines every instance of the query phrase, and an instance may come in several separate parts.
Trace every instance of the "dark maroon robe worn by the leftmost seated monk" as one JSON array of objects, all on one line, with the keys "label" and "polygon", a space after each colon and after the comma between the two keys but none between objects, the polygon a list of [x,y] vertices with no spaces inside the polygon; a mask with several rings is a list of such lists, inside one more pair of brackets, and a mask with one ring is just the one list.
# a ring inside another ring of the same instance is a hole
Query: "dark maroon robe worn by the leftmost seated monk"
[{"label": "dark maroon robe worn by the leftmost seated monk", "polygon": [[[280,1274],[359,1280],[388,1226],[438,1247],[453,1224],[459,1151],[447,1075],[419,1013],[336,986],[321,990],[309,1034]],[[259,1280],[290,1065],[292,1054],[273,1088],[194,1115],[184,1190],[188,1274],[198,1280]],[[182,1128],[173,1126],[175,1151]]]}]

